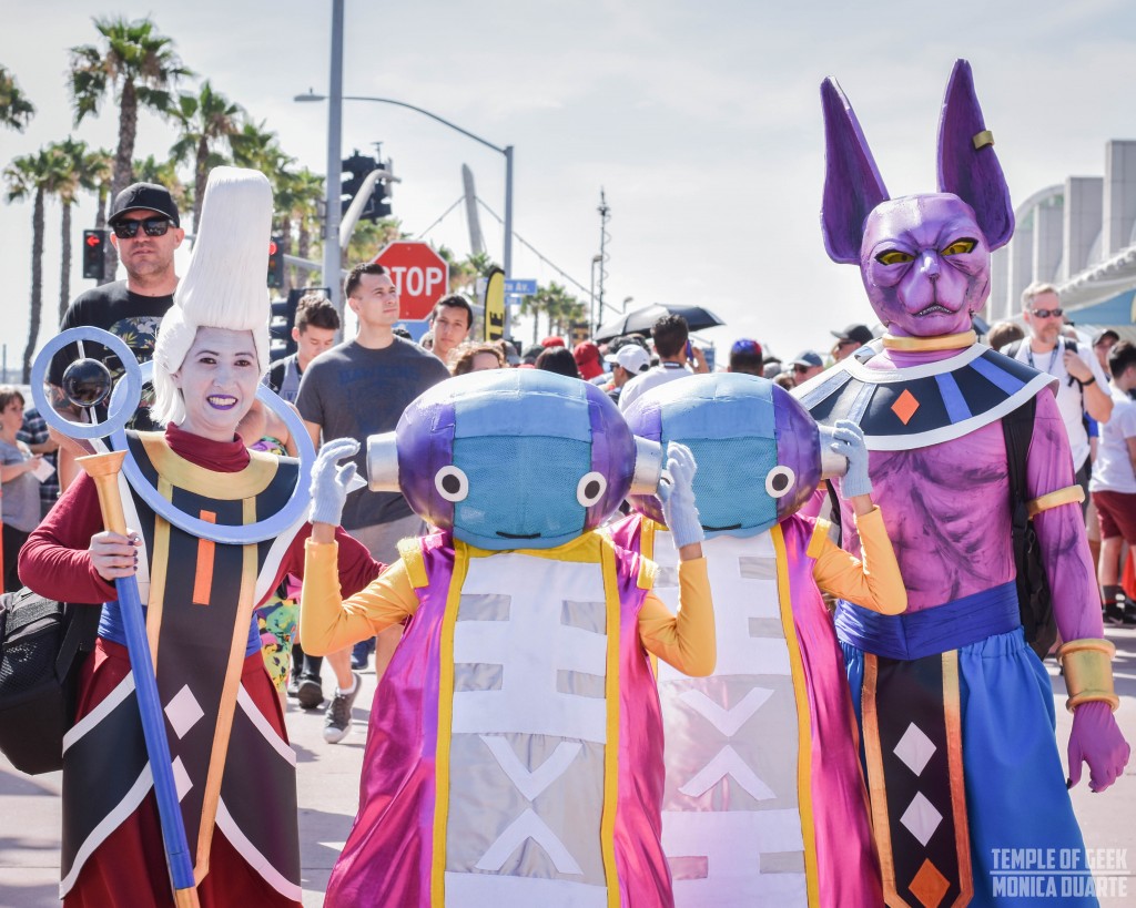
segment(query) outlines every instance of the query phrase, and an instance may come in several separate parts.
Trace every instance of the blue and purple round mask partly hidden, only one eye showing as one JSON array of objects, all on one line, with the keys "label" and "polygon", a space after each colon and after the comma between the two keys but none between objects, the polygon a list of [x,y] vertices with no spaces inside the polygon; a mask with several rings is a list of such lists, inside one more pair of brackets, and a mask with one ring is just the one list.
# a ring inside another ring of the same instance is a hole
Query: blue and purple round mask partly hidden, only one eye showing
[{"label": "blue and purple round mask partly hidden, only one eye showing", "polygon": [[[817,423],[768,379],[718,372],[668,381],[625,415],[636,436],[691,448],[698,463],[694,502],[708,537],[768,530],[795,513],[820,482]],[[662,522],[657,497],[629,501]]]}]

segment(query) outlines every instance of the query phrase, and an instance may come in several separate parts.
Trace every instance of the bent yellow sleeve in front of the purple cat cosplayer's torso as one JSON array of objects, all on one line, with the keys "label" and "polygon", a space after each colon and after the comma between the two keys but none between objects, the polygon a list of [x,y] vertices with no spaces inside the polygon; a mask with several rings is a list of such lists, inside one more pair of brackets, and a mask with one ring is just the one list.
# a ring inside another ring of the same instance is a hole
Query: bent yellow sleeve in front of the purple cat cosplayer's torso
[{"label": "bent yellow sleeve in front of the purple cat cosplayer's torso", "polygon": [[817,521],[809,556],[817,560],[812,575],[825,592],[862,605],[872,612],[897,615],[908,607],[900,565],[884,528],[879,507],[855,519],[863,561],[828,538],[827,521]]}]

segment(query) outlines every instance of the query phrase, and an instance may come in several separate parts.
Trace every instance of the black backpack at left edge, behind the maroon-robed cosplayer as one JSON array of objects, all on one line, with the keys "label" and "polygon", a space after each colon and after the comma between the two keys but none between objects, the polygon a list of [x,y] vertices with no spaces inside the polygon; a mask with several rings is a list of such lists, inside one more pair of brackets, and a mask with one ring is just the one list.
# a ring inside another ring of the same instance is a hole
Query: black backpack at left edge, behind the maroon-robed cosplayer
[{"label": "black backpack at left edge, behind the maroon-robed cosplayer", "polygon": [[0,596],[0,753],[20,772],[62,768],[80,669],[94,648],[101,611],[27,588]]}]

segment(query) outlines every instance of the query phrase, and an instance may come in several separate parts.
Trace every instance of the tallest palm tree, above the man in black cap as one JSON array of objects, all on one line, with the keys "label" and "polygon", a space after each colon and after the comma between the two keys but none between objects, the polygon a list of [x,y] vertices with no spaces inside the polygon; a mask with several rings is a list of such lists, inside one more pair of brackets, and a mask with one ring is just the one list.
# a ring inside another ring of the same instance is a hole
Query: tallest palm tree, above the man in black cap
[{"label": "tallest palm tree, above the man in black cap", "polygon": [[[118,148],[110,193],[117,195],[131,183],[139,109],[161,116],[175,111],[172,91],[178,79],[193,75],[182,65],[172,39],[158,34],[150,19],[125,17],[94,19],[101,35],[98,45],[70,49],[70,93],[75,125],[89,114],[98,114],[108,94],[118,100]],[[118,255],[107,244],[107,274],[114,275]]]}]

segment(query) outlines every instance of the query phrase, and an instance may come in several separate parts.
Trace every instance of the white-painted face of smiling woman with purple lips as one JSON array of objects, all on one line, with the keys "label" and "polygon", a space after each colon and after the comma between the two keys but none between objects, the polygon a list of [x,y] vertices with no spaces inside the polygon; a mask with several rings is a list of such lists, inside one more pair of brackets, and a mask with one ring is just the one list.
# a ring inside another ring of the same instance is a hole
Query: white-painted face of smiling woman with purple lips
[{"label": "white-painted face of smiling woman with purple lips", "polygon": [[179,428],[215,442],[233,440],[260,381],[252,331],[199,328],[182,368],[170,378],[185,398]]}]

